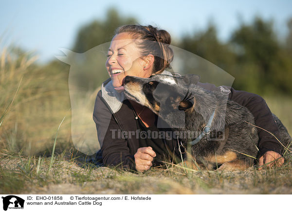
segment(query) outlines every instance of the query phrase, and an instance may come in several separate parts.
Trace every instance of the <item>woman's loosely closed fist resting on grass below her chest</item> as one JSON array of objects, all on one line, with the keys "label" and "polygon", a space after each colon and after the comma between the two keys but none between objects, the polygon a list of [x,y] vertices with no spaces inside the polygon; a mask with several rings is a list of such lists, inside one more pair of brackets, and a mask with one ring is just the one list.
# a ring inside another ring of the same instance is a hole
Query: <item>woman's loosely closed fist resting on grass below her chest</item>
[{"label": "woman's loosely closed fist resting on grass below her chest", "polygon": [[156,157],[156,153],[151,146],[139,148],[134,155],[136,170],[143,172],[150,169],[154,157]]}]

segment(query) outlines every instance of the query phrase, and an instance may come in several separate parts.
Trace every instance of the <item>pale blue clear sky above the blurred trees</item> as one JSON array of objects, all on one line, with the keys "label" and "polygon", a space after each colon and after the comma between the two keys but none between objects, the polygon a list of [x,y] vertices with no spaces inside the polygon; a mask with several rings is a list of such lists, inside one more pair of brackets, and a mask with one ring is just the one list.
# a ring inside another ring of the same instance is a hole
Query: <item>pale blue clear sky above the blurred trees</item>
[{"label": "pale blue clear sky above the blurred trees", "polygon": [[205,29],[210,21],[219,39],[227,41],[240,21],[250,23],[257,15],[273,19],[279,37],[292,18],[292,0],[9,0],[0,1],[0,48],[11,43],[35,51],[39,62],[72,49],[78,29],[94,19],[104,19],[109,8],[134,17],[142,25],[168,31],[173,39]]}]

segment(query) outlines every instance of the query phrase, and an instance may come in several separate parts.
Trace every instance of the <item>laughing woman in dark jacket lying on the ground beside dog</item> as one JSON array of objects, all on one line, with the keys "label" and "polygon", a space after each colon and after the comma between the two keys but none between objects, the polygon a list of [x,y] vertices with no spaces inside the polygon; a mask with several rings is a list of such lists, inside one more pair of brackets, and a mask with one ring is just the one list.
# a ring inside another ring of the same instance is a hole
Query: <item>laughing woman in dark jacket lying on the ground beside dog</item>
[{"label": "laughing woman in dark jacket lying on the ground beside dog", "polygon": [[[177,141],[134,135],[142,130],[169,129],[157,128],[157,116],[147,107],[124,99],[123,93],[123,80],[127,75],[150,77],[151,74],[171,74],[165,68],[172,61],[173,52],[164,45],[170,44],[170,41],[171,37],[166,31],[150,25],[126,25],[116,30],[106,61],[111,80],[103,83],[93,112],[105,165],[143,172],[151,166],[162,165],[160,161],[165,160],[165,156],[170,162],[179,162],[182,147]],[[246,106],[255,116],[257,126],[279,136],[272,113],[260,96],[231,88],[229,98]],[[121,135],[122,131],[134,134]],[[258,135],[259,165],[280,158],[281,146],[278,141],[264,130],[258,129]],[[281,165],[284,158],[278,161]]]}]

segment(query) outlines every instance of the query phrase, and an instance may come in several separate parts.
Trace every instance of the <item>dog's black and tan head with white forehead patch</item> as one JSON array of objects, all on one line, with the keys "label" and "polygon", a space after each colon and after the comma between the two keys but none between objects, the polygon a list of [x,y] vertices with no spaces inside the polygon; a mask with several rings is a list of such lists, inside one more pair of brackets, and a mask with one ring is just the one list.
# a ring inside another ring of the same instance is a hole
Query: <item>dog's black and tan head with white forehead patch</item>
[{"label": "dog's black and tan head with white forehead patch", "polygon": [[187,74],[182,77],[157,74],[150,78],[126,76],[126,96],[150,108],[172,127],[184,126],[184,111],[191,110],[194,99],[189,91],[200,77]]}]

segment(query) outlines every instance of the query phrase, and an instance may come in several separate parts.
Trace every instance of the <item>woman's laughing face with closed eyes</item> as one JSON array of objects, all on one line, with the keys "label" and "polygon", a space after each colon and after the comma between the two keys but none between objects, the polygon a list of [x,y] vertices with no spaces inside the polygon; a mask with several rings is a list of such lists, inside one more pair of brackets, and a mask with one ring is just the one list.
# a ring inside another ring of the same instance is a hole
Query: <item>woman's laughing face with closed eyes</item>
[{"label": "woman's laughing face with closed eyes", "polygon": [[115,35],[110,43],[106,68],[116,90],[123,90],[124,78],[129,76],[149,77],[144,70],[145,60],[129,33]]}]

